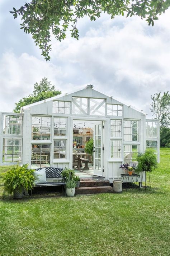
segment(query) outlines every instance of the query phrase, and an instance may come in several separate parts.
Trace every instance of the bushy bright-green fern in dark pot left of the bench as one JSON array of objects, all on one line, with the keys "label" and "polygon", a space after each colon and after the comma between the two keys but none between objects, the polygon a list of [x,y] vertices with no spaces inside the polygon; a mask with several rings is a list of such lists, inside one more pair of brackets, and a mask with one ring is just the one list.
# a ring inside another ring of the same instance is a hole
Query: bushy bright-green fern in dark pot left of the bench
[{"label": "bushy bright-green fern in dark pot left of the bench", "polygon": [[34,170],[28,168],[28,164],[13,165],[3,175],[4,187],[9,194],[14,194],[14,198],[22,198],[23,191],[31,190],[34,186]]}]

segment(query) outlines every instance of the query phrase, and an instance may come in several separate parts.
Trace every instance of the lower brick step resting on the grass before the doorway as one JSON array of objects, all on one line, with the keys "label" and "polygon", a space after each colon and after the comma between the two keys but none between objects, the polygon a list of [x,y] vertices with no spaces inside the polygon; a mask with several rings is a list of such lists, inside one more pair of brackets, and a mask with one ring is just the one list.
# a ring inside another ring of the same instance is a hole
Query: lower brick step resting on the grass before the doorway
[{"label": "lower brick step resting on the grass before the doorway", "polygon": [[99,193],[113,193],[113,187],[111,186],[79,187],[79,189],[75,189],[76,195],[99,194]]}]

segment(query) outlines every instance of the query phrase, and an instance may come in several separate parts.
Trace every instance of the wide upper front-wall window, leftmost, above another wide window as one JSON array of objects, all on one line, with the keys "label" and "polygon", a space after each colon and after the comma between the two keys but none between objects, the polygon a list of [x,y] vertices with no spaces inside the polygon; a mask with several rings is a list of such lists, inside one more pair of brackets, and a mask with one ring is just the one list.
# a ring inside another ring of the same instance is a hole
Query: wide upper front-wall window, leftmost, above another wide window
[{"label": "wide upper front-wall window, leftmost, above another wide window", "polygon": [[50,140],[51,118],[32,116],[32,140]]}]

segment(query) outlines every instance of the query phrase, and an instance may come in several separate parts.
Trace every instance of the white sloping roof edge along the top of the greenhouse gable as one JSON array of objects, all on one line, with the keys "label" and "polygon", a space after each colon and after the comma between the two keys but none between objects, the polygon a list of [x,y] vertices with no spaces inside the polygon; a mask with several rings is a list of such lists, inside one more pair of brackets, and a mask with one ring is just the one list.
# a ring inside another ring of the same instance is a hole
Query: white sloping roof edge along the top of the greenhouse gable
[{"label": "white sloping roof edge along the top of the greenhouse gable", "polygon": [[[42,104],[42,103],[44,103],[44,102],[55,101],[55,100],[59,100],[60,98],[61,98],[61,100],[65,100],[65,99],[62,99],[62,98],[63,98],[63,97],[66,98],[67,96],[69,97],[69,96],[71,96],[71,94],[72,94],[72,96],[74,96],[74,93],[79,93],[79,92],[80,92],[80,96],[79,96],[79,97],[84,97],[84,96],[81,96],[82,92],[89,91],[89,90],[91,90],[91,91],[93,91],[93,92],[96,92],[96,93],[98,94],[98,96],[99,96],[99,97],[97,97],[97,98],[109,98],[109,100],[110,100],[110,99],[113,99],[114,101],[116,101],[116,104],[121,104],[121,105],[123,104],[123,105],[128,106],[127,103],[124,103],[124,102],[122,102],[122,101],[119,101],[119,100],[116,99],[115,97],[113,98],[112,96],[107,95],[107,93],[103,93],[103,92],[101,92],[100,90],[98,90],[98,91],[94,90],[94,89],[93,89],[93,85],[90,84],[90,85],[87,85],[86,87],[84,87],[84,86],[83,86],[83,87],[79,87],[78,91],[75,90],[75,91],[71,91],[71,92],[69,92],[69,93],[62,93],[62,94],[60,94],[60,95],[57,95],[57,96],[48,98],[48,99],[46,99],[46,100],[38,101],[38,102],[35,102],[35,103],[32,103],[32,104],[29,104],[29,105],[27,105],[27,106],[24,106],[24,107],[21,108],[21,111],[20,111],[20,112],[22,113],[24,109],[28,109],[28,108],[30,108],[30,107],[32,107],[32,106],[36,106],[36,105]],[[76,96],[75,96],[75,97],[76,97]],[[77,97],[78,97],[78,96],[77,96]],[[145,114],[143,111],[138,110],[138,109],[136,109],[135,107],[133,107],[133,106],[131,106],[131,105],[128,106],[128,107],[130,107],[131,109],[134,109],[134,110],[136,110],[136,111],[138,111],[138,112],[141,112],[143,115],[147,115],[147,114]]]}]

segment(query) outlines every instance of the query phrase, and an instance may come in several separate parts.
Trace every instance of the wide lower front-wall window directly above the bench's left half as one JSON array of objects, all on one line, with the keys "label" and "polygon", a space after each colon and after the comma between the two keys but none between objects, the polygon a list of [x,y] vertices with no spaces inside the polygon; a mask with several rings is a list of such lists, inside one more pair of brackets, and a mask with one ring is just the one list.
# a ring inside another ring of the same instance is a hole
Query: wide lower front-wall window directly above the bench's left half
[{"label": "wide lower front-wall window directly above the bench's left half", "polygon": [[32,144],[31,167],[49,167],[50,149],[50,144]]}]

